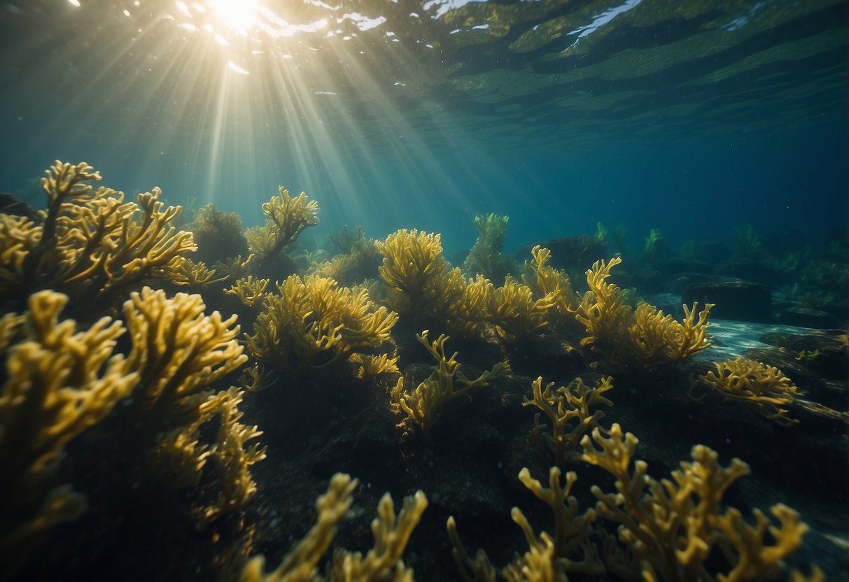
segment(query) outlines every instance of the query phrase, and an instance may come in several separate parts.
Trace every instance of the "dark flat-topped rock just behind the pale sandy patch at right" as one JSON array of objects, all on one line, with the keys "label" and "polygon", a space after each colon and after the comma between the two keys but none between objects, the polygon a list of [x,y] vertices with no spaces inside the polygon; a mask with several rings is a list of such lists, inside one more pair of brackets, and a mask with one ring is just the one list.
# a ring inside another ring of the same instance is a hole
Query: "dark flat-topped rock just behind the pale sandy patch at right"
[{"label": "dark flat-topped rock just behind the pale sandy patch at right", "polygon": [[772,321],[773,298],[762,283],[750,281],[725,281],[695,283],[681,294],[684,305],[698,301],[700,305],[713,303],[711,316],[739,322]]}]

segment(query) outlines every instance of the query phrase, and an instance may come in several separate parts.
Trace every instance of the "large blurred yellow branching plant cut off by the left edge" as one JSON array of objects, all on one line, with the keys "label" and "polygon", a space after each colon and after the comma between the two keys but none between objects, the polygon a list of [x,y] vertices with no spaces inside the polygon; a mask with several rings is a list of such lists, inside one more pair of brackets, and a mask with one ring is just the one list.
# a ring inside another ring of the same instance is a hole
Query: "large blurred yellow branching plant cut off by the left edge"
[{"label": "large blurred yellow branching plant cut off by the left edge", "polygon": [[139,374],[113,355],[121,322],[85,330],[59,322],[67,295],[40,291],[23,315],[0,320],[5,381],[0,392],[0,562],[14,573],[50,529],[79,518],[85,495],[57,483],[65,445],[130,395]]}]

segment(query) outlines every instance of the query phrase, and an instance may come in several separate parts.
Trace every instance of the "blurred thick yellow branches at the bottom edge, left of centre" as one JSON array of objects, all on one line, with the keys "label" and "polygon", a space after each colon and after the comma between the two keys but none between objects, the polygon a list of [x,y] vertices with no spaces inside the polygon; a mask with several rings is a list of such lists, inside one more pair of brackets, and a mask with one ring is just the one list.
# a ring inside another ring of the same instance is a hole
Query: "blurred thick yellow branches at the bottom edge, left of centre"
[{"label": "blurred thick yellow branches at the bottom edge, left of centre", "polygon": [[412,580],[413,570],[404,565],[401,557],[427,508],[427,497],[420,490],[404,498],[397,514],[391,495],[383,495],[378,503],[378,517],[372,522],[372,549],[363,556],[358,551],[338,548],[330,557],[324,576],[318,573],[318,562],[333,541],[339,524],[348,516],[358,484],[350,475],[336,473],[330,479],[327,492],[316,500],[318,518],[312,529],[272,572],[265,572],[265,557],[250,558],[242,568],[240,582]]}]

